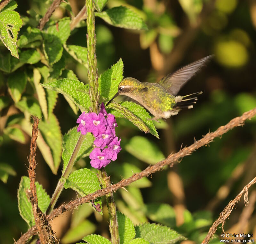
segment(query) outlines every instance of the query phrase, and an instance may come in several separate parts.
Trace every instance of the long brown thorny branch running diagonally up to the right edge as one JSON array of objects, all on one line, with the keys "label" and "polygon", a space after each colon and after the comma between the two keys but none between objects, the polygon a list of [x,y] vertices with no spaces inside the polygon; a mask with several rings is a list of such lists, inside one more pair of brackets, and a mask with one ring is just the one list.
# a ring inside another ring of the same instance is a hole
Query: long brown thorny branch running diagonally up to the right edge
[{"label": "long brown thorny branch running diagonally up to the right edge", "polygon": [[[256,115],[256,108],[254,108],[250,111],[247,111],[242,116],[236,117],[236,118],[233,118],[232,120],[230,120],[228,122],[228,124],[226,124],[225,126],[220,126],[216,131],[211,132],[211,133],[210,132],[207,133],[202,139],[200,139],[198,141],[195,141],[189,147],[183,148],[175,154],[170,154],[166,159],[158,162],[155,165],[150,165],[148,168],[141,171],[140,173],[133,174],[128,179],[123,179],[123,180],[119,181],[118,183],[116,183],[112,186],[109,186],[109,187],[106,187],[104,189],[98,190],[98,191],[96,191],[92,194],[89,194],[87,196],[77,198],[75,201],[71,201],[67,204],[62,204],[59,208],[53,210],[51,214],[47,215],[46,219],[47,220],[52,220],[53,218],[57,217],[58,215],[64,213],[65,211],[72,210],[72,209],[76,208],[80,204],[83,204],[85,202],[89,202],[89,201],[94,200],[98,197],[104,196],[104,195],[106,195],[110,192],[115,192],[116,190],[118,190],[122,187],[130,185],[132,182],[134,182],[138,179],[141,179],[143,177],[148,177],[152,173],[160,171],[165,165],[170,165],[170,167],[173,167],[175,161],[179,160],[180,158],[183,158],[185,156],[190,155],[192,152],[199,149],[200,147],[203,147],[203,146],[209,144],[210,142],[212,142],[215,137],[220,137],[221,135],[223,135],[224,133],[233,129],[234,127],[243,126],[244,121],[246,119],[250,119],[250,118],[254,117],[255,115]],[[254,179],[254,180],[256,181],[256,179]],[[245,189],[248,189],[248,185],[245,187]],[[252,185],[252,183],[251,183],[251,185]],[[16,242],[16,244],[24,243],[26,240],[28,240],[29,237],[31,237],[35,233],[36,233],[36,226],[33,226],[25,234],[23,234],[20,237],[20,239]]]}]

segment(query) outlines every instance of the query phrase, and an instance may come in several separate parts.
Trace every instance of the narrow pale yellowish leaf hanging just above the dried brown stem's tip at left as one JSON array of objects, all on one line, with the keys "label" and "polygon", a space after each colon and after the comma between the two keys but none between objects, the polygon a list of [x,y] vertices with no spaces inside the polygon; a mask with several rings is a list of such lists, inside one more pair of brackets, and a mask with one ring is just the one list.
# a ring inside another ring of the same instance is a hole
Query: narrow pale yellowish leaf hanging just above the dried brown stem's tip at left
[{"label": "narrow pale yellowish leaf hanging just above the dried brown stem's tip at left", "polygon": [[41,74],[38,69],[34,69],[33,71],[33,81],[36,88],[36,94],[38,97],[38,101],[41,107],[41,110],[44,114],[45,119],[48,119],[48,109],[47,109],[47,102],[46,102],[46,95],[44,92],[44,88],[41,86]]}]

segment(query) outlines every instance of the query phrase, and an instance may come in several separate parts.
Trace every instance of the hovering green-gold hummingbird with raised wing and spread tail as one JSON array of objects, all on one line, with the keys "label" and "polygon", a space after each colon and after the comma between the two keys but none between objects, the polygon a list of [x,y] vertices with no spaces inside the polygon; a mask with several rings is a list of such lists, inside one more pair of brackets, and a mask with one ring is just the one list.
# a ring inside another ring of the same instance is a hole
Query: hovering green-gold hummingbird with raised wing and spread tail
[{"label": "hovering green-gold hummingbird with raised wing and spread tail", "polygon": [[197,101],[196,95],[203,92],[195,92],[180,96],[178,92],[196,72],[206,64],[212,55],[199,59],[183,68],[172,72],[157,83],[140,82],[132,77],[124,78],[118,85],[118,91],[106,104],[113,101],[118,95],[125,95],[140,103],[154,117],[151,119],[170,118],[179,113],[181,109],[191,109]]}]

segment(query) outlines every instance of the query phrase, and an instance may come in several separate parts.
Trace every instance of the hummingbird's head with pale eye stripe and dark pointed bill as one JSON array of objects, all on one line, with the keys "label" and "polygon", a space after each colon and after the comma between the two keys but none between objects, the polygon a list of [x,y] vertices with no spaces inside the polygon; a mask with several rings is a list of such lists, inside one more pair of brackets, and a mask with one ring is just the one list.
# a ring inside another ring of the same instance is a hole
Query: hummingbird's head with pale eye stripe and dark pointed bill
[{"label": "hummingbird's head with pale eye stripe and dark pointed bill", "polygon": [[127,77],[124,78],[118,85],[117,88],[117,93],[116,95],[114,95],[106,104],[106,106],[108,106],[108,104],[113,101],[113,99],[115,97],[117,97],[118,95],[127,95],[129,96],[129,94],[131,94],[133,91],[136,90],[136,88],[138,88],[140,84],[139,80],[136,80],[135,78],[132,77]]}]

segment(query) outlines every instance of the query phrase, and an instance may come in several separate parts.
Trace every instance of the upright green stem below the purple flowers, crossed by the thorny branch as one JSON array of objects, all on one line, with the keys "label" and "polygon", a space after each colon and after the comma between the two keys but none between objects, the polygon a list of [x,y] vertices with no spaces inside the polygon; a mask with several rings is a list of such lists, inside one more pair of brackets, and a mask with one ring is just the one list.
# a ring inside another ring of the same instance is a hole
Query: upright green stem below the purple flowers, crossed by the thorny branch
[{"label": "upright green stem below the purple flowers, crossed by the thorny branch", "polygon": [[[98,179],[102,188],[109,187],[111,185],[110,179],[107,176],[105,168],[98,170]],[[109,214],[109,230],[111,235],[112,244],[119,243],[118,223],[116,217],[116,203],[114,200],[113,192],[105,195]]]}]

